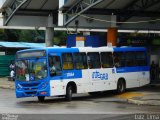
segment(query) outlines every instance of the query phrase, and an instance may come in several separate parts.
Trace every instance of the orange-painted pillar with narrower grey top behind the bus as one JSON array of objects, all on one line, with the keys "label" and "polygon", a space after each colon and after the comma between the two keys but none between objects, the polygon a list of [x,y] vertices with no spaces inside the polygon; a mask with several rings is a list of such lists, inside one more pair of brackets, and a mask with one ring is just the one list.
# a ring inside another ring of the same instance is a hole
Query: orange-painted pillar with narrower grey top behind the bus
[{"label": "orange-painted pillar with narrower grey top behind the bus", "polygon": [[116,19],[115,15],[111,16],[111,25],[108,28],[107,32],[107,46],[117,46],[117,26],[116,26]]}]

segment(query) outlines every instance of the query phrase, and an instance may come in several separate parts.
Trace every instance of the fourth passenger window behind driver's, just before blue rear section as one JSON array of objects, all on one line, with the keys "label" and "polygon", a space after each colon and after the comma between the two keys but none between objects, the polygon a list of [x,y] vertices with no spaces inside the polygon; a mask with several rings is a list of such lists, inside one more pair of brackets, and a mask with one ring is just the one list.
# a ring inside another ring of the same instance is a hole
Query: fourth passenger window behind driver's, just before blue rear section
[{"label": "fourth passenger window behind driver's, just before blue rear section", "polygon": [[102,52],[101,53],[101,62],[103,68],[113,67],[113,56],[111,52]]}]

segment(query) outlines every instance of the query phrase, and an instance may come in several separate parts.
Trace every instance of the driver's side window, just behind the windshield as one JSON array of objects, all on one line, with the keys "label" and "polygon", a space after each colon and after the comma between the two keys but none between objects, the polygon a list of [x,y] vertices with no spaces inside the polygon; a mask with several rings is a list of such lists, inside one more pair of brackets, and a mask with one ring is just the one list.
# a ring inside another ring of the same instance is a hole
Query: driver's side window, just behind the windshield
[{"label": "driver's side window, just behind the windshield", "polygon": [[50,56],[49,57],[49,71],[50,76],[61,76],[62,67],[59,56]]}]

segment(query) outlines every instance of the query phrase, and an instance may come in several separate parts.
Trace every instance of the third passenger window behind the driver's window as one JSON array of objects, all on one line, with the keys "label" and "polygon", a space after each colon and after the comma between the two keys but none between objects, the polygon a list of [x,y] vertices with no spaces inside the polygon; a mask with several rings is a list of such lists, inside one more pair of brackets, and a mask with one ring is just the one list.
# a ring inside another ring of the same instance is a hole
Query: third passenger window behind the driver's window
[{"label": "third passenger window behind the driver's window", "polygon": [[87,54],[88,66],[90,69],[101,68],[100,57],[98,52],[90,52]]}]

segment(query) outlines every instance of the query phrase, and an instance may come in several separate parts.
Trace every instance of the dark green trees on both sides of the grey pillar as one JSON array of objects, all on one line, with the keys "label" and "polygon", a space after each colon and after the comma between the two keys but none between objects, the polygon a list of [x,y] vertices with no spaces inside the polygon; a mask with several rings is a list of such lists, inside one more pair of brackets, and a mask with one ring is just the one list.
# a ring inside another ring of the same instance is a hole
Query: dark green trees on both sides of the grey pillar
[{"label": "dark green trees on both sides of the grey pillar", "polygon": [[[55,45],[66,45],[66,36],[67,33],[64,31],[55,31],[53,43]],[[0,29],[0,41],[44,43],[45,31]]]}]

